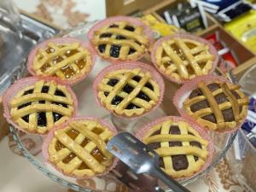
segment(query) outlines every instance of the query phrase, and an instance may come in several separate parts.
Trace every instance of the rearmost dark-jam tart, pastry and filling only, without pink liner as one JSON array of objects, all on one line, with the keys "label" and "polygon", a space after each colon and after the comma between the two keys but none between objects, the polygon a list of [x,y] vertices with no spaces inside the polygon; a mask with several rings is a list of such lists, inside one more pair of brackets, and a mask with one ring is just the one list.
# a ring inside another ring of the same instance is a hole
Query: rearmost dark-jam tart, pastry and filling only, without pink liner
[{"label": "rearmost dark-jam tart, pastry and filling only, without pink liner", "polygon": [[143,35],[142,26],[132,26],[128,22],[116,22],[102,27],[96,32],[94,41],[98,52],[114,59],[131,59],[145,52],[148,38]]}]

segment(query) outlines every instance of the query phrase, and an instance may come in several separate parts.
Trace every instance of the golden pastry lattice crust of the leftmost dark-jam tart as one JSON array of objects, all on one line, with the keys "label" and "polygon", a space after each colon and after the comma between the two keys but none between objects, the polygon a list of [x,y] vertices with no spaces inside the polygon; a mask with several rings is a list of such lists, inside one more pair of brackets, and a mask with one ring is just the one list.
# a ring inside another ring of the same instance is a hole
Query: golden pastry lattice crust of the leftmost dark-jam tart
[{"label": "golden pastry lattice crust of the leftmost dark-jam tart", "polygon": [[[49,86],[47,93],[42,93],[44,86]],[[23,95],[24,90],[21,90],[17,96],[10,102],[12,119],[23,125],[29,131],[39,131],[44,133],[49,130],[54,122],[53,113],[59,113],[62,116],[72,116],[73,113],[73,101],[70,96],[55,96],[55,90],[58,86],[54,81],[46,83],[44,80],[38,81],[32,86],[33,92],[29,95]],[[42,103],[43,102],[43,103]],[[31,103],[26,105],[27,103]],[[67,104],[67,108],[62,107],[56,103]],[[22,105],[26,105],[24,108],[19,108]],[[46,126],[40,126],[38,128],[38,113],[45,113]],[[29,115],[28,123],[26,123],[22,117]],[[62,117],[65,118],[65,117]]]}]

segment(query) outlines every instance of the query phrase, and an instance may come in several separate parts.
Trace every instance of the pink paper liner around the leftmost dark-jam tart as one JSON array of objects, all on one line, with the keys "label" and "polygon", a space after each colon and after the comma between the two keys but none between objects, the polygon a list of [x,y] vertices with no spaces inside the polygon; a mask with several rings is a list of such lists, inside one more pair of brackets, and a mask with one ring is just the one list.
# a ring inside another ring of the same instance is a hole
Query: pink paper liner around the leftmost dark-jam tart
[{"label": "pink paper liner around the leftmost dark-jam tart", "polygon": [[36,82],[38,82],[39,80],[45,80],[46,82],[52,81],[54,80],[57,84],[61,84],[66,86],[68,93],[70,94],[70,96],[73,98],[73,116],[76,115],[77,113],[77,108],[78,108],[78,100],[76,95],[74,94],[73,90],[67,86],[67,84],[63,84],[62,81],[60,81],[60,79],[56,79],[54,77],[49,77],[49,78],[42,78],[42,77],[29,77],[29,78],[24,78],[24,79],[20,79],[18,81],[15,82],[15,84],[12,84],[8,90],[6,90],[3,94],[3,116],[5,117],[5,119],[9,122],[9,124],[13,125],[16,129],[26,132],[27,134],[32,134],[32,135],[45,135],[47,134],[47,132],[45,132],[44,134],[39,134],[37,132],[30,132],[30,131],[26,131],[24,129],[22,129],[19,125],[17,125],[15,123],[15,121],[12,120],[11,116],[10,116],[10,109],[9,109],[9,101],[23,88],[25,88],[28,85],[32,85],[35,84]]}]

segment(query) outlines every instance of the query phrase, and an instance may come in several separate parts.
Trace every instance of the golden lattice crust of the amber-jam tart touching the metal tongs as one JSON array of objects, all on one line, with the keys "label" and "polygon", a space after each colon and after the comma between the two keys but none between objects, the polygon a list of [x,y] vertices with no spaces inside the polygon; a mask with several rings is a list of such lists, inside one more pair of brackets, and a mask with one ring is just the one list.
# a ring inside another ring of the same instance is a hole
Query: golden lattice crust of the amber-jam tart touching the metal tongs
[{"label": "golden lattice crust of the amber-jam tart touching the metal tongs", "polygon": [[[102,131],[100,135],[93,131],[95,128]],[[76,131],[78,136],[73,138],[68,135],[68,131]],[[69,174],[90,176],[104,172],[112,163],[112,155],[106,149],[106,142],[112,136],[111,131],[99,124],[71,123],[68,129],[55,131],[55,137],[49,145],[49,150],[54,151],[50,161]],[[62,145],[59,151],[55,150],[57,142]],[[102,162],[92,154],[96,148],[102,154]],[[70,157],[71,159],[66,162],[65,159]],[[80,168],[81,166],[83,167]]]}]

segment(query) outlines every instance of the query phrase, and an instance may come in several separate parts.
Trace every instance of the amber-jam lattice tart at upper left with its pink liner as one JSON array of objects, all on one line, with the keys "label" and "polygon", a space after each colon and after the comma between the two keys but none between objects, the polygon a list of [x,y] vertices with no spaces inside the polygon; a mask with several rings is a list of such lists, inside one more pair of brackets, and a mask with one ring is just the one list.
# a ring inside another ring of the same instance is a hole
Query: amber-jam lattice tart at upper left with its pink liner
[{"label": "amber-jam lattice tart at upper left with its pink liner", "polygon": [[57,77],[67,84],[84,78],[93,66],[89,48],[75,38],[49,39],[32,50],[28,70],[38,76]]}]

